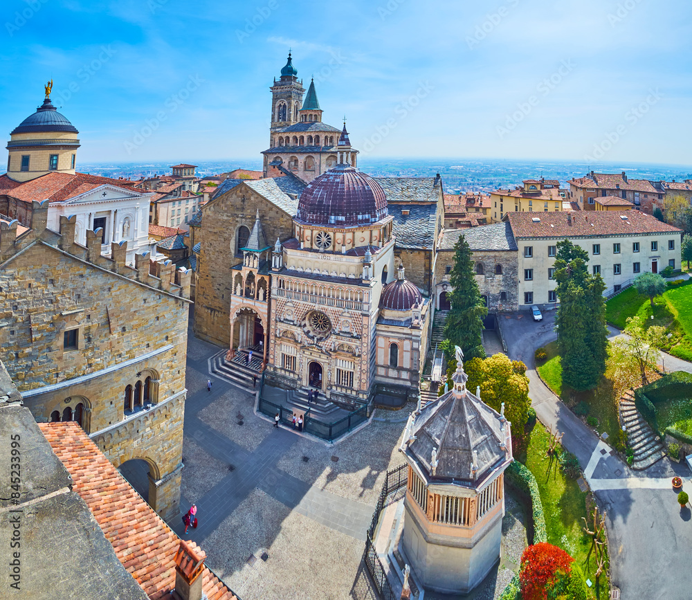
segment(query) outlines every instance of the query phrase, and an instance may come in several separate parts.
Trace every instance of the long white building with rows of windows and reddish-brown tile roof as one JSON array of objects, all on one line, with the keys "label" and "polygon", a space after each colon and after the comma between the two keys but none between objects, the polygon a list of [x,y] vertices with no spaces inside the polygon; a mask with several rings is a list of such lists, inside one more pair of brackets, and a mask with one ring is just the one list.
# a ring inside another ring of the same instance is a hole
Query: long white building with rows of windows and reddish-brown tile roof
[{"label": "long white building with rows of windows and reddish-brown tile roof", "polygon": [[635,210],[594,212],[509,212],[505,217],[518,246],[519,306],[557,302],[554,264],[563,239],[589,255],[606,293],[630,284],[640,273],[680,269],[682,230]]}]

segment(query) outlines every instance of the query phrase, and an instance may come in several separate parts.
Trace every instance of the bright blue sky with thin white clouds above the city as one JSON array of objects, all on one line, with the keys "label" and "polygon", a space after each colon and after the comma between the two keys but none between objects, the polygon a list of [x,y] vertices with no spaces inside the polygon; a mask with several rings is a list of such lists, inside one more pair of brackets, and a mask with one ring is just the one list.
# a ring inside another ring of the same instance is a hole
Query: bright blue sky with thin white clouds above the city
[{"label": "bright blue sky with thin white clouds above the city", "polygon": [[293,50],[362,155],[692,163],[682,0],[5,0],[0,120],[42,101],[82,162],[259,158]]}]

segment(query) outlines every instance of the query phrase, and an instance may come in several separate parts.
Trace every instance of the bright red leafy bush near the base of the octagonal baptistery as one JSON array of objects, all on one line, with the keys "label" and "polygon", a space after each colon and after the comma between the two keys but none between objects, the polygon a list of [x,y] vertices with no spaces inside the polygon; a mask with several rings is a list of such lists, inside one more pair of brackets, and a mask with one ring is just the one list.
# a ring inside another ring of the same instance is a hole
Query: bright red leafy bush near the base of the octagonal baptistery
[{"label": "bright red leafy bush near the base of the octagonal baptistery", "polygon": [[549,590],[566,579],[574,558],[547,542],[527,547],[521,557],[519,579],[523,600],[546,600]]}]

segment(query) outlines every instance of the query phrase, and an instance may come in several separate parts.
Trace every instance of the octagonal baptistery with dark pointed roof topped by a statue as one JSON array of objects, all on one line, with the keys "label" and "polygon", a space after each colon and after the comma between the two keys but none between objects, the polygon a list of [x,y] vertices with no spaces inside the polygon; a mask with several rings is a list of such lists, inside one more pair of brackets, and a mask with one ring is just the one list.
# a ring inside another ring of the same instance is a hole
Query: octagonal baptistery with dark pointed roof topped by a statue
[{"label": "octagonal baptistery with dark pointed roof topped by a statue", "polygon": [[513,460],[509,421],[466,390],[462,359],[457,348],[453,390],[412,414],[401,443],[403,549],[424,588],[450,594],[473,590],[500,558],[504,469]]}]

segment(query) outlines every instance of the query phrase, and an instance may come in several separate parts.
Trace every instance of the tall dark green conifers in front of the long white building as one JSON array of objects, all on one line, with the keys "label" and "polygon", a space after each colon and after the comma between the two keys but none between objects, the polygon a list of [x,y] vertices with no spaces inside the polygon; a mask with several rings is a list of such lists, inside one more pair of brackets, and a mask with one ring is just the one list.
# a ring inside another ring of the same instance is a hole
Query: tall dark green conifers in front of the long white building
[{"label": "tall dark green conifers in front of the long white building", "polygon": [[588,271],[588,253],[565,239],[558,242],[555,279],[560,304],[556,316],[563,382],[573,390],[590,390],[605,372],[608,329],[605,285]]}]

